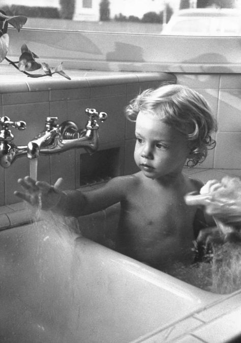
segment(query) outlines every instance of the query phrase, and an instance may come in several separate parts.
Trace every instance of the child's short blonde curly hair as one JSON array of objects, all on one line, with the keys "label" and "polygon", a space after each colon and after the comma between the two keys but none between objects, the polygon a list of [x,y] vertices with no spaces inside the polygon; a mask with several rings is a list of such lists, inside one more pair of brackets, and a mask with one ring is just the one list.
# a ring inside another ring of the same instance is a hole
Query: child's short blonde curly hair
[{"label": "child's short blonde curly hair", "polygon": [[178,84],[146,89],[126,107],[129,120],[135,121],[139,111],[153,113],[174,126],[191,141],[188,167],[205,160],[207,150],[216,146],[211,137],[217,131],[216,120],[206,100],[197,91]]}]

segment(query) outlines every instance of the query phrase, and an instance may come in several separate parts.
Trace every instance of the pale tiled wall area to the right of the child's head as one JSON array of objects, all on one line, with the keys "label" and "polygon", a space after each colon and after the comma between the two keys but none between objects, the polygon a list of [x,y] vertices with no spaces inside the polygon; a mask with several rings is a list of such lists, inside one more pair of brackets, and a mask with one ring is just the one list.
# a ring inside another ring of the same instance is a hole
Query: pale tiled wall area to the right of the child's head
[{"label": "pale tiled wall area to the right of the child's head", "polygon": [[177,83],[200,92],[217,118],[216,148],[200,165],[241,170],[241,74],[176,74]]}]

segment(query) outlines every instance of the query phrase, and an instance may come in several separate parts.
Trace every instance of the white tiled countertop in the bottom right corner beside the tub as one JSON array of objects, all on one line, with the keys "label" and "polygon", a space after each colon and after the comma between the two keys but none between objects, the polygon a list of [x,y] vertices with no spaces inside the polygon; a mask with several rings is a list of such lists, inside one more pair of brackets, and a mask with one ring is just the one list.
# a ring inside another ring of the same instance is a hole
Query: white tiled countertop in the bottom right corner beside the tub
[{"label": "white tiled countertop in the bottom right corner beside the tub", "polygon": [[237,343],[241,335],[240,302],[241,290],[132,343]]}]

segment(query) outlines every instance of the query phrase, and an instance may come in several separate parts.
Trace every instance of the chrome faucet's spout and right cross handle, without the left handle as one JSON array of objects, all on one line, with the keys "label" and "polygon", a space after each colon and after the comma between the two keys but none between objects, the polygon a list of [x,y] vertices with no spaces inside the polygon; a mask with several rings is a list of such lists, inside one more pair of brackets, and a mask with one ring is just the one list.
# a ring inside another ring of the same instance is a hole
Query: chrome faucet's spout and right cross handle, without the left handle
[{"label": "chrome faucet's spout and right cross handle, without the left handle", "polygon": [[57,117],[47,117],[44,130],[27,145],[27,158],[36,159],[40,154],[48,155],[67,151],[73,148],[85,148],[93,153],[99,146],[99,125],[107,119],[105,112],[98,113],[94,108],[87,108],[88,115],[84,129],[78,129],[74,121],[66,120],[58,124]]}]

